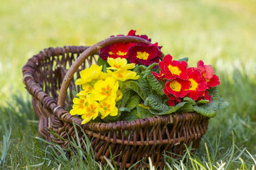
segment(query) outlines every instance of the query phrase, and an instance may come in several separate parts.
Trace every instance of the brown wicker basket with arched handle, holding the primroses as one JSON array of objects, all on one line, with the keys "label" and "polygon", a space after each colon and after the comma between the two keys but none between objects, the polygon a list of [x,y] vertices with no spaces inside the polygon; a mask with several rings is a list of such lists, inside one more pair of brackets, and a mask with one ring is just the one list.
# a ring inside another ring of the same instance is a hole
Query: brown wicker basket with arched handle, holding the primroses
[{"label": "brown wicker basket with arched handle, holding the primroses", "polygon": [[[208,128],[208,117],[198,113],[174,113],[131,122],[88,122],[82,125],[81,118],[71,116],[67,111],[72,108],[72,90],[81,90],[74,80],[80,78],[79,71],[97,63],[95,57],[104,46],[128,41],[150,43],[139,37],[117,36],[90,47],[44,49],[23,67],[23,83],[32,95],[32,105],[39,118],[39,134],[47,141],[55,141],[64,148],[67,141],[56,140],[48,131],[54,131],[64,139],[77,139],[75,122],[88,135],[96,159],[102,164],[106,162],[104,156],[110,158],[111,148],[115,164],[121,168],[131,167],[144,158],[142,166],[147,167],[148,157],[154,165],[162,167],[164,153],[176,158],[176,154],[183,155],[185,145],[193,143],[195,149],[199,146]],[[82,138],[84,135],[79,133],[79,139]]]}]

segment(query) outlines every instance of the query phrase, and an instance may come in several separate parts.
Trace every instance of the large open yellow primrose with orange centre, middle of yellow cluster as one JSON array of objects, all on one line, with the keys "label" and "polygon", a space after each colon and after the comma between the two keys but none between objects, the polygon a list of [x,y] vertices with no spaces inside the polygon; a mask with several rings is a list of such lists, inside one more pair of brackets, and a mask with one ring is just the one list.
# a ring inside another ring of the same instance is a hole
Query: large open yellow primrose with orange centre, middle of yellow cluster
[{"label": "large open yellow primrose with orange centre, middle of yellow cluster", "polygon": [[94,84],[92,94],[97,96],[98,101],[106,97],[113,97],[115,99],[117,97],[118,87],[118,81],[113,77],[108,77],[106,80],[98,80],[98,82]]}]

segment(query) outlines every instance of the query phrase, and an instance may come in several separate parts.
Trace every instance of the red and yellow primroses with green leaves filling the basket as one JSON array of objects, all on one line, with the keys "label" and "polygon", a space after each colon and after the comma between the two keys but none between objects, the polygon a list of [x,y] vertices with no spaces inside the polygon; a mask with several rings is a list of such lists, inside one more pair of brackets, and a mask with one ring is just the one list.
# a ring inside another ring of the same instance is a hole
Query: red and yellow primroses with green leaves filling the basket
[{"label": "red and yellow primroses with green leaves filling the basket", "polygon": [[[120,35],[118,35],[120,36]],[[146,35],[135,35],[151,42]],[[126,42],[100,50],[98,65],[80,73],[76,80],[71,115],[86,122],[134,121],[174,112],[197,112],[216,116],[228,105],[217,95],[219,78],[203,61],[188,67],[188,58],[162,57],[158,43]]]}]

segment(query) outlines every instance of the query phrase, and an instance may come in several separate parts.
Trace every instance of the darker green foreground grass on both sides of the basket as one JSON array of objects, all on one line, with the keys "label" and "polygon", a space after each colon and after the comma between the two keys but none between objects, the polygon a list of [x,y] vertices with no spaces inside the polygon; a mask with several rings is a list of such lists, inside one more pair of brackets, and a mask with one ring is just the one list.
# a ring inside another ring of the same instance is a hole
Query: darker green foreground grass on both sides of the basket
[{"label": "darker green foreground grass on both sides of the basket", "polygon": [[[248,82],[243,90],[239,83],[233,83],[233,79],[227,79],[226,74],[220,74],[222,86],[218,89],[219,94],[229,101],[229,107],[221,109],[216,117],[210,119],[208,131],[196,154],[188,152],[191,159],[188,159],[190,157],[187,154],[183,157],[187,162],[183,163],[166,156],[166,169],[168,167],[195,169],[196,166],[206,169],[211,169],[210,167],[217,169],[215,167],[221,166],[226,169],[243,169],[241,167],[252,169],[253,165],[255,166],[255,107],[251,102],[255,97],[253,94],[247,95],[247,98],[241,100],[238,106],[237,101],[229,95],[236,93],[237,96],[242,97],[244,94],[250,94],[255,84],[250,83],[246,76],[239,75],[242,74],[238,71],[234,73],[238,82],[245,80]],[[226,92],[226,88],[230,89],[229,92]],[[75,156],[71,158],[65,156],[65,150],[60,146],[53,143],[51,143],[52,147],[48,146],[50,143],[41,139],[36,133],[38,123],[35,121],[36,117],[30,100],[30,96],[13,95],[7,106],[0,109],[0,117],[5,120],[0,126],[0,131],[5,132],[3,133],[5,137],[0,137],[1,159],[5,158],[3,159],[5,163],[2,164],[3,169],[58,169],[59,167],[60,169],[79,169],[83,166],[85,169],[88,167],[112,169],[109,164],[100,165],[94,161],[93,153],[89,152],[91,148],[88,140],[85,141],[88,152],[81,151],[80,147],[71,140],[70,145],[77,150],[77,153],[74,152]],[[10,131],[11,137],[8,140]],[[85,158],[88,162],[81,161],[81,158]]]}]

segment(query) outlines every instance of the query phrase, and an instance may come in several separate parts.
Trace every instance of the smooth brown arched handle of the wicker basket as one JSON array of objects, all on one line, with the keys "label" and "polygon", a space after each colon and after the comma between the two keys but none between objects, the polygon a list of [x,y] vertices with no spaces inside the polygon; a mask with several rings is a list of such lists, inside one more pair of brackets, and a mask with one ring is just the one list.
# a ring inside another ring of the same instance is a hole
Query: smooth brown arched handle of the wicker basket
[{"label": "smooth brown arched handle of the wicker basket", "polygon": [[[115,44],[117,42],[146,42],[147,44],[152,44],[150,41],[147,41],[145,39],[142,39],[140,37],[135,36],[116,36],[116,37],[110,37],[108,39],[102,40],[98,42],[97,44],[94,44],[93,46],[90,46],[90,48],[86,49],[84,52],[81,53],[81,55],[73,62],[71,67],[69,68],[67,74],[65,75],[63,82],[60,87],[60,94],[58,98],[58,105],[60,107],[64,108],[65,104],[65,97],[67,95],[67,90],[69,83],[71,82],[73,75],[76,73],[76,70],[79,69],[80,65],[85,61],[86,58],[100,50],[101,48],[104,48],[105,46],[108,46],[110,44]],[[162,53],[162,57],[163,57]]]}]

